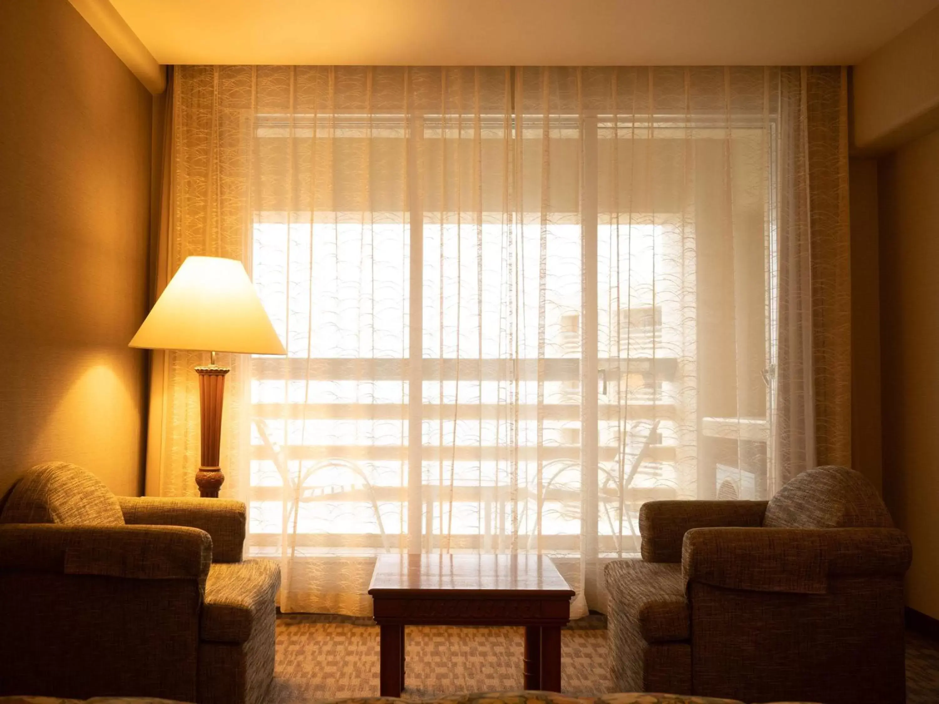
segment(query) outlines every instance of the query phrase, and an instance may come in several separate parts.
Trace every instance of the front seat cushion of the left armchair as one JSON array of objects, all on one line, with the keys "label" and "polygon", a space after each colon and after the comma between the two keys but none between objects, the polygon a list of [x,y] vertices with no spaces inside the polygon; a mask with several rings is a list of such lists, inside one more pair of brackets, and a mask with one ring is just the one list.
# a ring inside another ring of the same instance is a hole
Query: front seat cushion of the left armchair
[{"label": "front seat cushion of the left armchair", "polygon": [[259,615],[271,608],[281,586],[281,568],[269,559],[220,562],[208,571],[200,639],[245,643]]}]

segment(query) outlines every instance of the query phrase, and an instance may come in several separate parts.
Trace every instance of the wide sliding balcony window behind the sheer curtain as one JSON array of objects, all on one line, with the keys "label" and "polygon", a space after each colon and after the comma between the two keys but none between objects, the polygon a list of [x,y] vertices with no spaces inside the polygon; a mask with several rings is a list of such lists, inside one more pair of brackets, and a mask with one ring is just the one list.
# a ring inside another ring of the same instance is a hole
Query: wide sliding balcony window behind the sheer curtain
[{"label": "wide sliding balcony window behind the sheer curtain", "polygon": [[[284,132],[273,115],[257,139],[305,144],[316,126],[303,120]],[[689,132],[691,163],[670,163]],[[254,213],[254,283],[288,350],[251,366],[255,554],[622,555],[638,549],[646,500],[762,496],[768,191],[749,193],[755,224],[728,240],[694,193],[655,212],[649,193],[613,183],[637,167],[662,170],[643,188],[701,178],[731,146],[767,159],[761,127],[425,113],[333,118],[330,136],[333,159],[367,148],[373,165],[439,184],[421,198],[373,176],[376,209]],[[573,173],[508,183],[538,150]],[[555,181],[573,197],[546,198]],[[701,393],[702,375],[727,389]]]}]

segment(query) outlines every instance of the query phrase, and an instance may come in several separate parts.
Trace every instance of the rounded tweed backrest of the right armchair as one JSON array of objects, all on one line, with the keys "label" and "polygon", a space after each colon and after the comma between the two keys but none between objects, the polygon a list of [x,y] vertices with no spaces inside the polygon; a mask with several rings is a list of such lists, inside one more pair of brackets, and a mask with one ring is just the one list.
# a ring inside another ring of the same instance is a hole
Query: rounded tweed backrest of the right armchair
[{"label": "rounded tweed backrest of the right armchair", "polygon": [[815,467],[784,485],[766,507],[763,528],[892,528],[873,485],[847,467]]}]

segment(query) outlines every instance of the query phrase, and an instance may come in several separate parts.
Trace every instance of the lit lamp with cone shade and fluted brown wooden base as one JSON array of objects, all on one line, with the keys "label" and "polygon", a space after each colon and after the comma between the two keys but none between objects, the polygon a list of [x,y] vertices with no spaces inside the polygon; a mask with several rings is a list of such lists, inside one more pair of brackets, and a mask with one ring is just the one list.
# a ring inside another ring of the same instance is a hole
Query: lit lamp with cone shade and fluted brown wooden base
[{"label": "lit lamp with cone shade and fluted brown wooden base", "polygon": [[218,497],[225,481],[219,466],[222,400],[225,375],[231,370],[215,363],[215,353],[286,354],[241,262],[187,257],[130,346],[211,352],[211,364],[195,368],[202,426],[202,461],[195,483],[200,496]]}]

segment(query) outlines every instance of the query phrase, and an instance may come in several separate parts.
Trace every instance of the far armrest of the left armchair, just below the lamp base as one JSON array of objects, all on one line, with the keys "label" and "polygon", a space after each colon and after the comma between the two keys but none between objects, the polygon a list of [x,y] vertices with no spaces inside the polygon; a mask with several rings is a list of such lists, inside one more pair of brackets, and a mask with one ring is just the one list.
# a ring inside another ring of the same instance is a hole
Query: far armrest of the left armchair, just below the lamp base
[{"label": "far armrest of the left armchair, just below the lamp base", "polygon": [[212,537],[213,562],[240,562],[245,506],[224,498],[117,497],[128,525],[188,526]]}]

